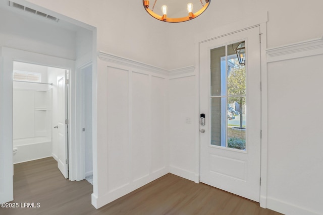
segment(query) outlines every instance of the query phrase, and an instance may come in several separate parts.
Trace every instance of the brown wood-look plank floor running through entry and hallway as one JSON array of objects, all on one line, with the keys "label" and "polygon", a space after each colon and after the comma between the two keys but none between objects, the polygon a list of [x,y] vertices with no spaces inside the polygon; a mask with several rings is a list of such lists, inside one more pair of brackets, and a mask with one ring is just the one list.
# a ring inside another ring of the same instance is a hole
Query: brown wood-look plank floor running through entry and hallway
[{"label": "brown wood-look plank floor running through entry and hallway", "polygon": [[0,208],[0,214],[216,214],[279,215],[259,204],[205,184],[167,174],[99,209],[91,205],[92,185],[64,179],[53,158],[14,165],[15,203],[39,208]]}]

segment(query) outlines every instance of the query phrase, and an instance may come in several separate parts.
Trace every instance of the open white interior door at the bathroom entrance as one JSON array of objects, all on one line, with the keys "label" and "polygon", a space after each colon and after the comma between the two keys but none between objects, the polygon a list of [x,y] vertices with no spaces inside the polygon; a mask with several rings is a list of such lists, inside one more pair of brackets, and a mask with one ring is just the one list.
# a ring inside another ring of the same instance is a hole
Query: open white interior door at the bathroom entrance
[{"label": "open white interior door at the bathroom entrance", "polygon": [[65,178],[68,178],[68,116],[67,116],[67,95],[68,88],[64,77],[58,77],[58,168]]}]

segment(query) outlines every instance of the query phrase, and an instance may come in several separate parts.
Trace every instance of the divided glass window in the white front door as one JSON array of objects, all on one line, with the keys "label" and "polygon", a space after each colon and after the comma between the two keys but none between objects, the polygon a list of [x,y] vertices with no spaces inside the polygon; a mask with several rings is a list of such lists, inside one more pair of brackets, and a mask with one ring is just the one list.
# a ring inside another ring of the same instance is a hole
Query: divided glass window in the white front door
[{"label": "divided glass window in the white front door", "polygon": [[[244,41],[214,48],[211,57],[211,142],[213,146],[246,149],[246,66],[236,48]],[[245,62],[245,55],[243,60]]]}]

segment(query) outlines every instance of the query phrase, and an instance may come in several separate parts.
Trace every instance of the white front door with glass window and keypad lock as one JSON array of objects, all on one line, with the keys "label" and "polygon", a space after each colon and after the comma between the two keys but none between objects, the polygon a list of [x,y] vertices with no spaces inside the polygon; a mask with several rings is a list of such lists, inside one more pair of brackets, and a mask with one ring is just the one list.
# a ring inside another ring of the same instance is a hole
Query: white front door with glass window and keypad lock
[{"label": "white front door with glass window and keypad lock", "polygon": [[259,202],[259,27],[199,47],[200,181]]}]

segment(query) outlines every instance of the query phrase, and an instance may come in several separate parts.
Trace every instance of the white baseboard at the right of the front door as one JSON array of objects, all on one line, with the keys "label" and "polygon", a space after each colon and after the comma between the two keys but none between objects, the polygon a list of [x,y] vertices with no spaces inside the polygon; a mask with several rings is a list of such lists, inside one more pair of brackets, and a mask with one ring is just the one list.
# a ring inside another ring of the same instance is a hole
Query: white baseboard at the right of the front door
[{"label": "white baseboard at the right of the front door", "polygon": [[270,198],[270,197],[267,197],[266,206],[268,209],[275,210],[285,215],[304,215],[304,214],[320,215],[323,212],[323,210],[320,212],[315,212],[315,211],[309,210],[308,208],[303,208],[303,207],[290,204],[288,202],[284,202],[276,198]]}]

